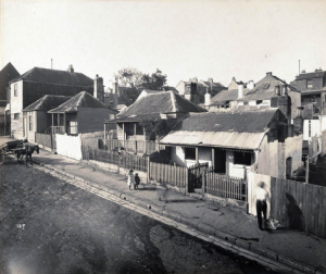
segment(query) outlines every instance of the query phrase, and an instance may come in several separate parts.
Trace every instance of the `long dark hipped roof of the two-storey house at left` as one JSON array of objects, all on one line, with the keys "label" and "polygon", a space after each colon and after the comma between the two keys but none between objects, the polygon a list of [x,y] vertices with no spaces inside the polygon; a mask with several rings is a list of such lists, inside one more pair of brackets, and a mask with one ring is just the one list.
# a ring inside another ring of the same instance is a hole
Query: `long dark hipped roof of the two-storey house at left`
[{"label": "long dark hipped roof of the two-storey house at left", "polygon": [[12,79],[10,83],[17,80],[34,80],[55,84],[65,84],[72,86],[93,86],[93,80],[83,73],[71,73],[67,71],[58,71],[42,67],[34,67],[21,76]]}]

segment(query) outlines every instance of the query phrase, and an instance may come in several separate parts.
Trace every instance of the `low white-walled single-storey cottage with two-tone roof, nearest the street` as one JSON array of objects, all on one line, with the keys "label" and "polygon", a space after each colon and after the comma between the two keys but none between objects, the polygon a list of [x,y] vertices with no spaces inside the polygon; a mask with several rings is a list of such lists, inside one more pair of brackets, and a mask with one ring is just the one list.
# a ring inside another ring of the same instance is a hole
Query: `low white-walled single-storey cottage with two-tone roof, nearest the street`
[{"label": "low white-walled single-storey cottage with two-tone roof, nearest the street", "polygon": [[291,177],[302,165],[302,135],[288,136],[279,110],[189,113],[159,144],[180,166],[208,162],[216,173],[247,178],[249,171]]}]

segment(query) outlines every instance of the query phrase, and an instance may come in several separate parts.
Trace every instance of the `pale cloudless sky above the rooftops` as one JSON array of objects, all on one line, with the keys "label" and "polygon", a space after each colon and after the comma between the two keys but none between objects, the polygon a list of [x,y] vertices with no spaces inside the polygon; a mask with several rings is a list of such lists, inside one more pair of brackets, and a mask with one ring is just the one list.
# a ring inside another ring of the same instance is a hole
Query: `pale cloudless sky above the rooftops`
[{"label": "pale cloudless sky above the rooftops", "polygon": [[167,84],[228,86],[266,72],[288,83],[326,70],[326,1],[1,0],[1,67],[66,70],[111,86],[114,73],[160,68]]}]

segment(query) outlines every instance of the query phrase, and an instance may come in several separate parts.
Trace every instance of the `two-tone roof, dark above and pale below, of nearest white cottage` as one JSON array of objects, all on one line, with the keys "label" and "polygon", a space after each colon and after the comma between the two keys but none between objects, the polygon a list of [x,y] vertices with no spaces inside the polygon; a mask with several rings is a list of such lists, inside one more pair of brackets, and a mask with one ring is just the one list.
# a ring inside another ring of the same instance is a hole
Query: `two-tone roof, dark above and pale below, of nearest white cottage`
[{"label": "two-tone roof, dark above and pale below, of nearest white cottage", "polygon": [[160,144],[254,150],[277,111],[190,113]]}]

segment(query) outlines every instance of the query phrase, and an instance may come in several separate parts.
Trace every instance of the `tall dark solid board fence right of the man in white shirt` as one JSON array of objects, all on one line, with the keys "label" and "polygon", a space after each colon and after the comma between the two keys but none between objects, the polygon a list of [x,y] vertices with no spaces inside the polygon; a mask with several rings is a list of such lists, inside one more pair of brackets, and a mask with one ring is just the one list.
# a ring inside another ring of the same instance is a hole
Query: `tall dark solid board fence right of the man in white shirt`
[{"label": "tall dark solid board fence right of the man in white shirt", "polygon": [[326,238],[326,187],[271,177],[271,217]]}]

